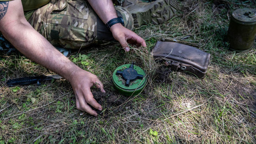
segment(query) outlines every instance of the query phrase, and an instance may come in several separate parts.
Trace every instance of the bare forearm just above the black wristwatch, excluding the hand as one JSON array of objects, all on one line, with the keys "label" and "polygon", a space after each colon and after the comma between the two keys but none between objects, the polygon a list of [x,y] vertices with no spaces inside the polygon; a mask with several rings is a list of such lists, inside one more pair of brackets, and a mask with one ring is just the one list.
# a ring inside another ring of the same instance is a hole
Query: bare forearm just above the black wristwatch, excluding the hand
[{"label": "bare forearm just above the black wristwatch, excluding the hand", "polygon": [[117,18],[112,0],[88,0],[88,2],[104,24],[113,18]]}]

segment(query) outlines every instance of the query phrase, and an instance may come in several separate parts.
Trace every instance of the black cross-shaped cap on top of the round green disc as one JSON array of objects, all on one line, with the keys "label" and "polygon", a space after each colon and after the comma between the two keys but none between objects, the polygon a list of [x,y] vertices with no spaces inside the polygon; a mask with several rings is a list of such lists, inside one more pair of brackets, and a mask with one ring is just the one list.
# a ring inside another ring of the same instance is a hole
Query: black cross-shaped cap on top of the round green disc
[{"label": "black cross-shaped cap on top of the round green disc", "polygon": [[129,86],[130,82],[136,79],[140,79],[140,80],[143,79],[143,75],[138,74],[138,72],[133,67],[134,67],[134,62],[132,62],[129,68],[126,68],[123,71],[118,70],[116,72],[116,75],[121,75],[122,78],[126,81],[125,86]]}]

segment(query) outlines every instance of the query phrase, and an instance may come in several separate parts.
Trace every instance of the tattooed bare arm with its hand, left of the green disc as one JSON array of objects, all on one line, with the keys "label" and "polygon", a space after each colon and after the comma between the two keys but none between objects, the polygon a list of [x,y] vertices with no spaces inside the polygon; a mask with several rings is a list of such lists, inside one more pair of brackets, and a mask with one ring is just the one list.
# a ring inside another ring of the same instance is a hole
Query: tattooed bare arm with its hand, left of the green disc
[{"label": "tattooed bare arm with its hand, left of the green disc", "polygon": [[97,116],[87,103],[102,110],[90,91],[90,87],[96,84],[104,92],[100,80],[72,63],[34,30],[24,17],[21,0],[0,2],[0,31],[22,54],[68,80],[75,92],[79,110]]}]

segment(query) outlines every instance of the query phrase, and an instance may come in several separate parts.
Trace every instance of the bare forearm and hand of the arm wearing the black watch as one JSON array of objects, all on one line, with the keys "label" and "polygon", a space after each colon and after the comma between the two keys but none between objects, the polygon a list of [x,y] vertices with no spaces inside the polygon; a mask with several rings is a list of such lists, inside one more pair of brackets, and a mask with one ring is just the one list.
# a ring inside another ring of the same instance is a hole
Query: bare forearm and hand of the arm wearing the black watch
[{"label": "bare forearm and hand of the arm wearing the black watch", "polygon": [[[112,0],[88,0],[94,11],[98,14],[100,19],[106,24],[112,18],[117,18],[116,10]],[[146,42],[140,36],[128,30],[122,24],[114,24],[110,31],[113,37],[120,42],[122,47],[128,52],[130,49],[128,43],[136,44],[138,46],[146,47]],[[127,42],[126,42],[127,41]]]}]

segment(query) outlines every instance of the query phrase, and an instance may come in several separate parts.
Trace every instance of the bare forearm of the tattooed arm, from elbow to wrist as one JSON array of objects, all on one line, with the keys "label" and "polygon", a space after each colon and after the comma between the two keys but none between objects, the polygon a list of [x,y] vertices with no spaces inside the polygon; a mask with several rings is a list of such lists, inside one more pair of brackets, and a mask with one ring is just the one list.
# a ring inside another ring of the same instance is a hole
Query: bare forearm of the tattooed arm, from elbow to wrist
[{"label": "bare forearm of the tattooed arm, from elbow to wrist", "polygon": [[38,64],[60,74],[67,80],[79,67],[61,54],[26,20],[14,22],[2,31],[3,35],[22,54]]}]

